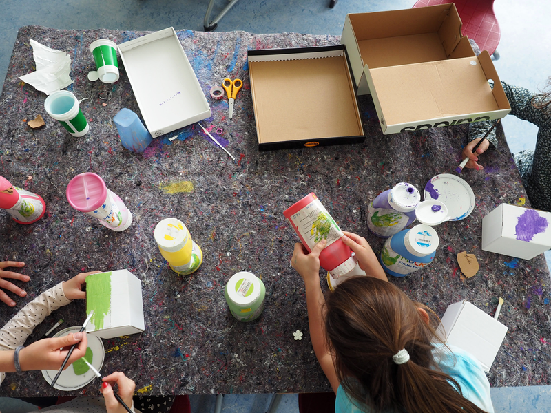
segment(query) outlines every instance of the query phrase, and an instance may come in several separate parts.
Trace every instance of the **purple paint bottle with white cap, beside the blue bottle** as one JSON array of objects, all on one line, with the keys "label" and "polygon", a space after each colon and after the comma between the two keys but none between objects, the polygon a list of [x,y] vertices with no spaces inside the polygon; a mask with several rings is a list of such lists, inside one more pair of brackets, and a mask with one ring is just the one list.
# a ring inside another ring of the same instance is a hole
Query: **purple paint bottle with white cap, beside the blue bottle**
[{"label": "purple paint bottle with white cap, beside the blue bottle", "polygon": [[369,204],[367,227],[377,237],[388,238],[415,221],[421,194],[412,184],[400,182],[377,195]]}]

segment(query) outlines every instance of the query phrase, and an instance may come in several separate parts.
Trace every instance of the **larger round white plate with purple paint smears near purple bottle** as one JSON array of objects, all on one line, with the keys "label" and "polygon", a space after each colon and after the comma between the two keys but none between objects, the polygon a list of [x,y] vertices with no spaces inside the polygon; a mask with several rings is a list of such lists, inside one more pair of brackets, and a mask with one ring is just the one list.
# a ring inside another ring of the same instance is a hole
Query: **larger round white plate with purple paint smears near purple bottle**
[{"label": "larger round white plate with purple paint smears near purple bottle", "polygon": [[459,176],[441,173],[425,185],[425,200],[439,200],[448,208],[450,221],[467,218],[475,209],[475,193]]}]

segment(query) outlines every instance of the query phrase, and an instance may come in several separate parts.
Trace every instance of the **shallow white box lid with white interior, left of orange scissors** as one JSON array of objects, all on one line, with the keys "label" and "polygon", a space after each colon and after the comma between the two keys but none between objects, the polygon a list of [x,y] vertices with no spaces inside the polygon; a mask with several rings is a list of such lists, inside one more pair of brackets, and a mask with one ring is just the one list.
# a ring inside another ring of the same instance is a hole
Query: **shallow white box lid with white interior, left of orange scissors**
[{"label": "shallow white box lid with white interior, left of orange scissors", "polygon": [[207,98],[174,28],[121,43],[118,50],[152,136],[211,116]]}]

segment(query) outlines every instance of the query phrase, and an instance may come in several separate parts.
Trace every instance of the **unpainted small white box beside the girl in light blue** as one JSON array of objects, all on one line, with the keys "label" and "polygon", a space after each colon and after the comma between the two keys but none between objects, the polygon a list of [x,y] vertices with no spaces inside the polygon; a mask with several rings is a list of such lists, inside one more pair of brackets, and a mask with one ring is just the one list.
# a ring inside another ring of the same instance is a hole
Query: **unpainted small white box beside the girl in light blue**
[{"label": "unpainted small white box beside the girl in light blue", "polygon": [[470,352],[490,371],[509,328],[468,301],[450,304],[437,333],[446,343]]}]

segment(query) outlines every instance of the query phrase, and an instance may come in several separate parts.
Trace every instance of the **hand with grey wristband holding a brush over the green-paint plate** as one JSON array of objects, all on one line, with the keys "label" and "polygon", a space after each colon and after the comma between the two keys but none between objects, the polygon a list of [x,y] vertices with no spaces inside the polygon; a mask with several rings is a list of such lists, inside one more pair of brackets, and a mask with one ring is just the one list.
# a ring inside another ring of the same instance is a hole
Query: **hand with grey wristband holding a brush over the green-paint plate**
[{"label": "hand with grey wristband holding a brush over the green-paint plate", "polygon": [[86,355],[88,339],[85,332],[35,341],[19,352],[21,370],[59,370],[73,344],[76,346],[65,368]]}]

